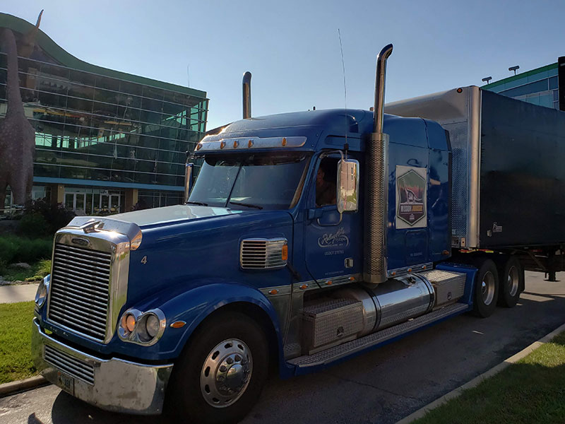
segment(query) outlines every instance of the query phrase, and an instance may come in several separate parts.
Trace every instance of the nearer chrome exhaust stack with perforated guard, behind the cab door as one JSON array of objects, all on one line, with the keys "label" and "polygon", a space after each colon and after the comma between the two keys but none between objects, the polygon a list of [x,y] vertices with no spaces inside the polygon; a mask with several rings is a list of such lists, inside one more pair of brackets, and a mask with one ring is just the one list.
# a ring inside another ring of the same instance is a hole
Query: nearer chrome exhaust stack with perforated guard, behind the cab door
[{"label": "nearer chrome exhaust stack with perforated guard, behind the cab door", "polygon": [[383,117],[386,59],[392,52],[389,44],[376,57],[373,133],[366,152],[363,280],[373,284],[387,280],[388,134],[383,133]]}]

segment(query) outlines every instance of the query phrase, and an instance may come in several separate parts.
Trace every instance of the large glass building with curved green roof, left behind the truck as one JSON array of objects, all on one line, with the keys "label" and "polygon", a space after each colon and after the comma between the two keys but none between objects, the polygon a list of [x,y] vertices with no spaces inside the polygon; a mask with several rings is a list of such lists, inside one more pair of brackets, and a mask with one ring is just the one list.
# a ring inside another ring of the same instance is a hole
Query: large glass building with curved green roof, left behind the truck
[{"label": "large glass building with curved green roof, left behind the truck", "polygon": [[[41,30],[24,52],[34,27],[5,13],[0,28],[16,36],[20,93],[35,128],[34,199],[87,215],[181,203],[185,152],[206,131],[206,92],[88,64]],[[0,119],[6,110],[1,52]]]}]

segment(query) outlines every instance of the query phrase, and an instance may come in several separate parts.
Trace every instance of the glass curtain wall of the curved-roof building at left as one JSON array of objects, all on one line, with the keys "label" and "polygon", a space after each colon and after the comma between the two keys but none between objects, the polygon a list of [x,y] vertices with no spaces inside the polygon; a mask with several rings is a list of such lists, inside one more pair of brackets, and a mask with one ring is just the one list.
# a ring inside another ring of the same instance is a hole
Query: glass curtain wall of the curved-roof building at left
[{"label": "glass curtain wall of the curved-roof building at left", "polygon": [[[185,152],[206,129],[206,98],[47,61],[20,57],[18,65],[35,127],[35,177],[184,185]],[[1,53],[0,118],[5,114]]]}]

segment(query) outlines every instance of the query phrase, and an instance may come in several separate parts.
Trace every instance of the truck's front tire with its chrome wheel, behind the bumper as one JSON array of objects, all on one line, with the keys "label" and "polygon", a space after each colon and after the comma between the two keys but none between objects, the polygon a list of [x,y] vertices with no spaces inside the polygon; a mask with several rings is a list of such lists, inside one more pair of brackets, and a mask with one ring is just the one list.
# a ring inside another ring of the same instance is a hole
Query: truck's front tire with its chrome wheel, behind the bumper
[{"label": "truck's front tire with its chrome wheel, behind the bumper", "polygon": [[267,373],[261,326],[239,312],[219,314],[198,329],[174,365],[167,409],[181,422],[236,423],[254,406]]}]

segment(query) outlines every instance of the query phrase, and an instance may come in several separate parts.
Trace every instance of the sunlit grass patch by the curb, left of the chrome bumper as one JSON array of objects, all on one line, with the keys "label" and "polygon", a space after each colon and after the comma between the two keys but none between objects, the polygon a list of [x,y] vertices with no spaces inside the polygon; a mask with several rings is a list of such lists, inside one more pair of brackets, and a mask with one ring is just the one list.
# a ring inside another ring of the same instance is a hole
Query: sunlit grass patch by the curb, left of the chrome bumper
[{"label": "sunlit grass patch by the curb, left of the chrome bumper", "polygon": [[0,384],[37,374],[31,359],[33,302],[0,304]]}]

